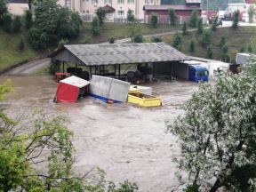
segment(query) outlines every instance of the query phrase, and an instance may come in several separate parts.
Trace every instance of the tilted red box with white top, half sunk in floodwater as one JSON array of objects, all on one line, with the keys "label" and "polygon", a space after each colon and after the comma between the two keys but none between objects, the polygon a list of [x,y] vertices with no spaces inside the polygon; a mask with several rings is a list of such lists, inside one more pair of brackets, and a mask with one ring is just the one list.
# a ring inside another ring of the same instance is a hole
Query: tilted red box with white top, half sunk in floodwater
[{"label": "tilted red box with white top, half sunk in floodwater", "polygon": [[90,82],[77,76],[69,76],[58,84],[56,100],[60,102],[76,102],[79,97],[89,93]]}]

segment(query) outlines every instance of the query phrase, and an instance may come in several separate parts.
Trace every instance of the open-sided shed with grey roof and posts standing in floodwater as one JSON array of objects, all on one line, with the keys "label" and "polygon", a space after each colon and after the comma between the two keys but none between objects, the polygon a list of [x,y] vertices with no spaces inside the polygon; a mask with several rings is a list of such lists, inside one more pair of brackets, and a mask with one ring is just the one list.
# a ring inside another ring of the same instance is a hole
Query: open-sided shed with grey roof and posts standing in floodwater
[{"label": "open-sided shed with grey roof and posts standing in floodwater", "polygon": [[[63,65],[74,63],[76,68],[87,67],[90,76],[116,76],[117,72],[119,78],[122,76],[121,65],[150,64],[154,76],[159,71],[158,66],[165,64],[164,72],[169,71],[168,76],[172,76],[172,62],[190,60],[182,52],[164,43],[72,44],[53,52],[51,58],[62,61]],[[106,68],[112,68],[114,72],[109,73]]]}]

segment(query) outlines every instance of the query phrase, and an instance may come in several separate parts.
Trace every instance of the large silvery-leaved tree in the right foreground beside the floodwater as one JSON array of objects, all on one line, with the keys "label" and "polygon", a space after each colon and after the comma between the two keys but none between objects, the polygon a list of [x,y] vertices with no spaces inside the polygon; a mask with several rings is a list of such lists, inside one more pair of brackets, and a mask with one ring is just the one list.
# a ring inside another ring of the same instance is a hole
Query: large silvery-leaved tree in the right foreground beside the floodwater
[{"label": "large silvery-leaved tree in the right foreground beside the floodwater", "polygon": [[256,61],[238,75],[221,72],[214,84],[200,84],[185,114],[168,130],[180,143],[180,170],[197,191],[253,191],[255,188]]}]

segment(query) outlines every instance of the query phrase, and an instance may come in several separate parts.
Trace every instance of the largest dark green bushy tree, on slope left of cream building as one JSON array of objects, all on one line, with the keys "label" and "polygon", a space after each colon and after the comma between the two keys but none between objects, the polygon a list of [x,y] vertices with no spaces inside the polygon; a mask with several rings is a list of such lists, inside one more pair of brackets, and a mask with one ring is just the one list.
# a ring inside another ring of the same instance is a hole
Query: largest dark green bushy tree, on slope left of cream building
[{"label": "largest dark green bushy tree, on slope left of cream building", "polygon": [[77,12],[61,7],[56,0],[35,3],[34,28],[29,30],[29,42],[35,49],[58,45],[61,39],[78,36],[82,20]]}]

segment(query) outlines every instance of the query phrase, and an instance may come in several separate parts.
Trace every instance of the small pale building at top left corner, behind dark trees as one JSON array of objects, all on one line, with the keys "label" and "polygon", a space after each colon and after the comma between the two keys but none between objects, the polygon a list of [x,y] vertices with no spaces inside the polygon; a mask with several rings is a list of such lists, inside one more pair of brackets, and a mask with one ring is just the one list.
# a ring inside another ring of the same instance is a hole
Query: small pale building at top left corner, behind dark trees
[{"label": "small pale building at top left corner, behind dark trees", "polygon": [[22,15],[26,10],[28,10],[27,0],[9,0],[7,4],[8,10],[13,15]]}]

